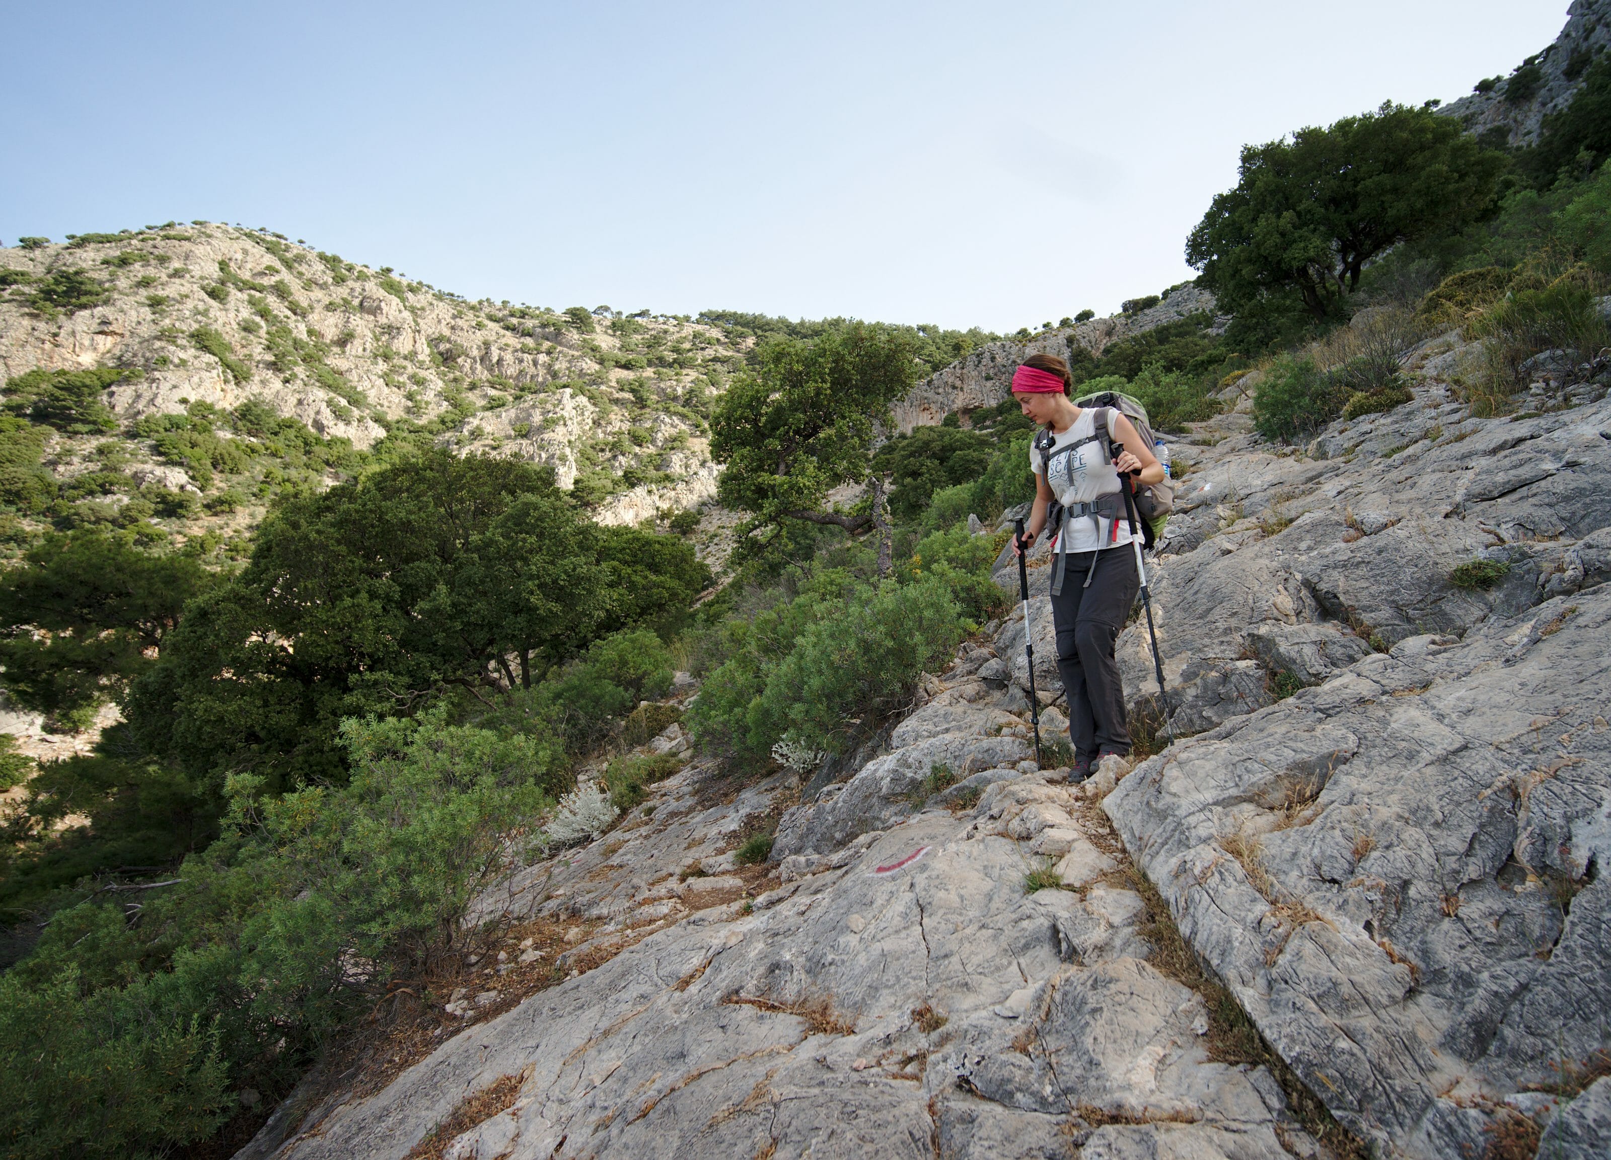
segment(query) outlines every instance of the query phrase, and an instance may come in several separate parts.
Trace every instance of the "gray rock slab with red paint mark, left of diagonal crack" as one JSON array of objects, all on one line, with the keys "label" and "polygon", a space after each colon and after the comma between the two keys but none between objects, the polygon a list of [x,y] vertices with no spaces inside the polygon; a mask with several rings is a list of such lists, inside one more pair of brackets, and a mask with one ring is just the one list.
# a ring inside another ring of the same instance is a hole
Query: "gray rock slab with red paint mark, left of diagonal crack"
[{"label": "gray rock slab with red paint mark, left of diagonal crack", "polygon": [[[796,815],[820,835],[834,801],[862,794],[867,817],[936,754],[1023,752],[1025,722],[1000,709],[1015,690],[970,662],[933,682],[891,752]],[[1210,1058],[1203,999],[1147,962],[1124,852],[1075,788],[981,770],[962,783],[971,807],[902,799],[886,828],[785,854],[764,893],[706,905],[739,878],[677,870],[730,857],[796,785],[709,801],[707,775],[693,762],[651,788],[651,814],[478,902],[477,920],[586,926],[562,970],[614,957],[503,1015],[467,1009],[383,1091],[277,1123],[250,1155],[395,1160],[503,1076],[519,1097],[445,1155],[1321,1155],[1268,1071]],[[1026,893],[1049,865],[1070,888]]]}]

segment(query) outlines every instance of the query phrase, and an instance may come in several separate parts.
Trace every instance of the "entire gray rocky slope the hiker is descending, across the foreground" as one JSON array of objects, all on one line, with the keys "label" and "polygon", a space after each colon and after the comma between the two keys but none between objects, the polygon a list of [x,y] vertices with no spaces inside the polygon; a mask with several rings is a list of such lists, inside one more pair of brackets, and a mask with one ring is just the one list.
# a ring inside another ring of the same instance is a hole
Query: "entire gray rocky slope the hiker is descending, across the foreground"
[{"label": "entire gray rocky slope the hiker is descending, across the foreground", "polygon": [[1176,450],[1162,714],[1120,651],[1186,740],[1037,772],[1020,607],[854,760],[694,760],[488,893],[506,951],[437,1031],[243,1155],[1603,1155],[1611,375],[1479,419],[1472,356],[1307,448],[1232,411]]}]

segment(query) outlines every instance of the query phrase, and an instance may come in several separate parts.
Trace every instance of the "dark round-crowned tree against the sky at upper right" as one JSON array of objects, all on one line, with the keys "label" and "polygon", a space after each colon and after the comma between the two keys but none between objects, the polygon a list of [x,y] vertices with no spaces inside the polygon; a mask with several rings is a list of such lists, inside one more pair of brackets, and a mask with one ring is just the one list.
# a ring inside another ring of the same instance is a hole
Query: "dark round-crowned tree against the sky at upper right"
[{"label": "dark round-crowned tree against the sky at upper right", "polygon": [[1326,319],[1371,258],[1481,218],[1505,164],[1450,118],[1385,103],[1329,129],[1245,147],[1240,180],[1215,197],[1186,259],[1231,309],[1295,293]]}]

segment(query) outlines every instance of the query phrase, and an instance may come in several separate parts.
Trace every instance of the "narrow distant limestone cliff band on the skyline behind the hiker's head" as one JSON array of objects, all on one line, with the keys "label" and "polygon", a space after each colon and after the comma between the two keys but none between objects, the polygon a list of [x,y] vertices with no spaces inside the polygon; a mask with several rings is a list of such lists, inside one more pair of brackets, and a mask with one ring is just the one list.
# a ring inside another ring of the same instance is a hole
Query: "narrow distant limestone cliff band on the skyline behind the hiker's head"
[{"label": "narrow distant limestone cliff band on the skyline behind the hiker's head", "polygon": [[[910,395],[894,404],[896,430],[910,435],[915,427],[933,427],[952,411],[996,406],[1007,398],[1013,369],[1031,354],[1057,354],[1068,358],[1076,346],[1092,354],[1102,354],[1120,338],[1144,334],[1165,322],[1176,322],[1192,314],[1213,314],[1215,300],[1208,290],[1194,285],[1179,287],[1163,301],[1134,314],[1113,314],[1091,319],[1071,327],[1041,330],[1029,338],[979,346],[965,359],[952,362],[920,382]],[[1223,325],[1229,317],[1216,319]]]}]

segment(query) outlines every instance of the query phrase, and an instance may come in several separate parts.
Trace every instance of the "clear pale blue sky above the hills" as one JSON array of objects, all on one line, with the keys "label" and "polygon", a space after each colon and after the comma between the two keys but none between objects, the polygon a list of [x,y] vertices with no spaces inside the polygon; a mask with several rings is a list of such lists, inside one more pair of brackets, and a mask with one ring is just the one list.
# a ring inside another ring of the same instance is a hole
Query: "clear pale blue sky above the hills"
[{"label": "clear pale blue sky above the hills", "polygon": [[1244,142],[1566,0],[23,3],[0,238],[267,226],[470,298],[1010,330],[1184,280]]}]

